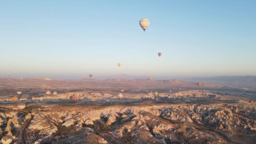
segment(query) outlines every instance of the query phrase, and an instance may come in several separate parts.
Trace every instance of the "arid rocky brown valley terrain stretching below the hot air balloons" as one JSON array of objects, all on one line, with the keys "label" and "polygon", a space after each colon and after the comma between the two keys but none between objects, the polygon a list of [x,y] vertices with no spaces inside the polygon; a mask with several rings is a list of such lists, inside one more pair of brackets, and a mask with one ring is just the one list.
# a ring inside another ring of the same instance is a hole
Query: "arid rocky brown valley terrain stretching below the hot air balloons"
[{"label": "arid rocky brown valley terrain stretching below the hot air balloons", "polygon": [[26,144],[255,144],[255,101],[253,88],[179,80],[7,78],[0,135]]}]

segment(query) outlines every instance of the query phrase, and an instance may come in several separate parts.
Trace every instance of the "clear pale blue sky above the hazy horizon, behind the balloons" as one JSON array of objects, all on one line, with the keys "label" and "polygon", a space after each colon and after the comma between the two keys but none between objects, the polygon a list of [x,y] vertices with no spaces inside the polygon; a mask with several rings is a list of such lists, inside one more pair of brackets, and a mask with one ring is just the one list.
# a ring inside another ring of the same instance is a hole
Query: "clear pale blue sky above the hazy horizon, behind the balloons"
[{"label": "clear pale blue sky above the hazy horizon, behind the balloons", "polygon": [[[1,1],[0,77],[256,75],[255,5],[256,0]],[[142,18],[150,21],[145,32]]]}]

